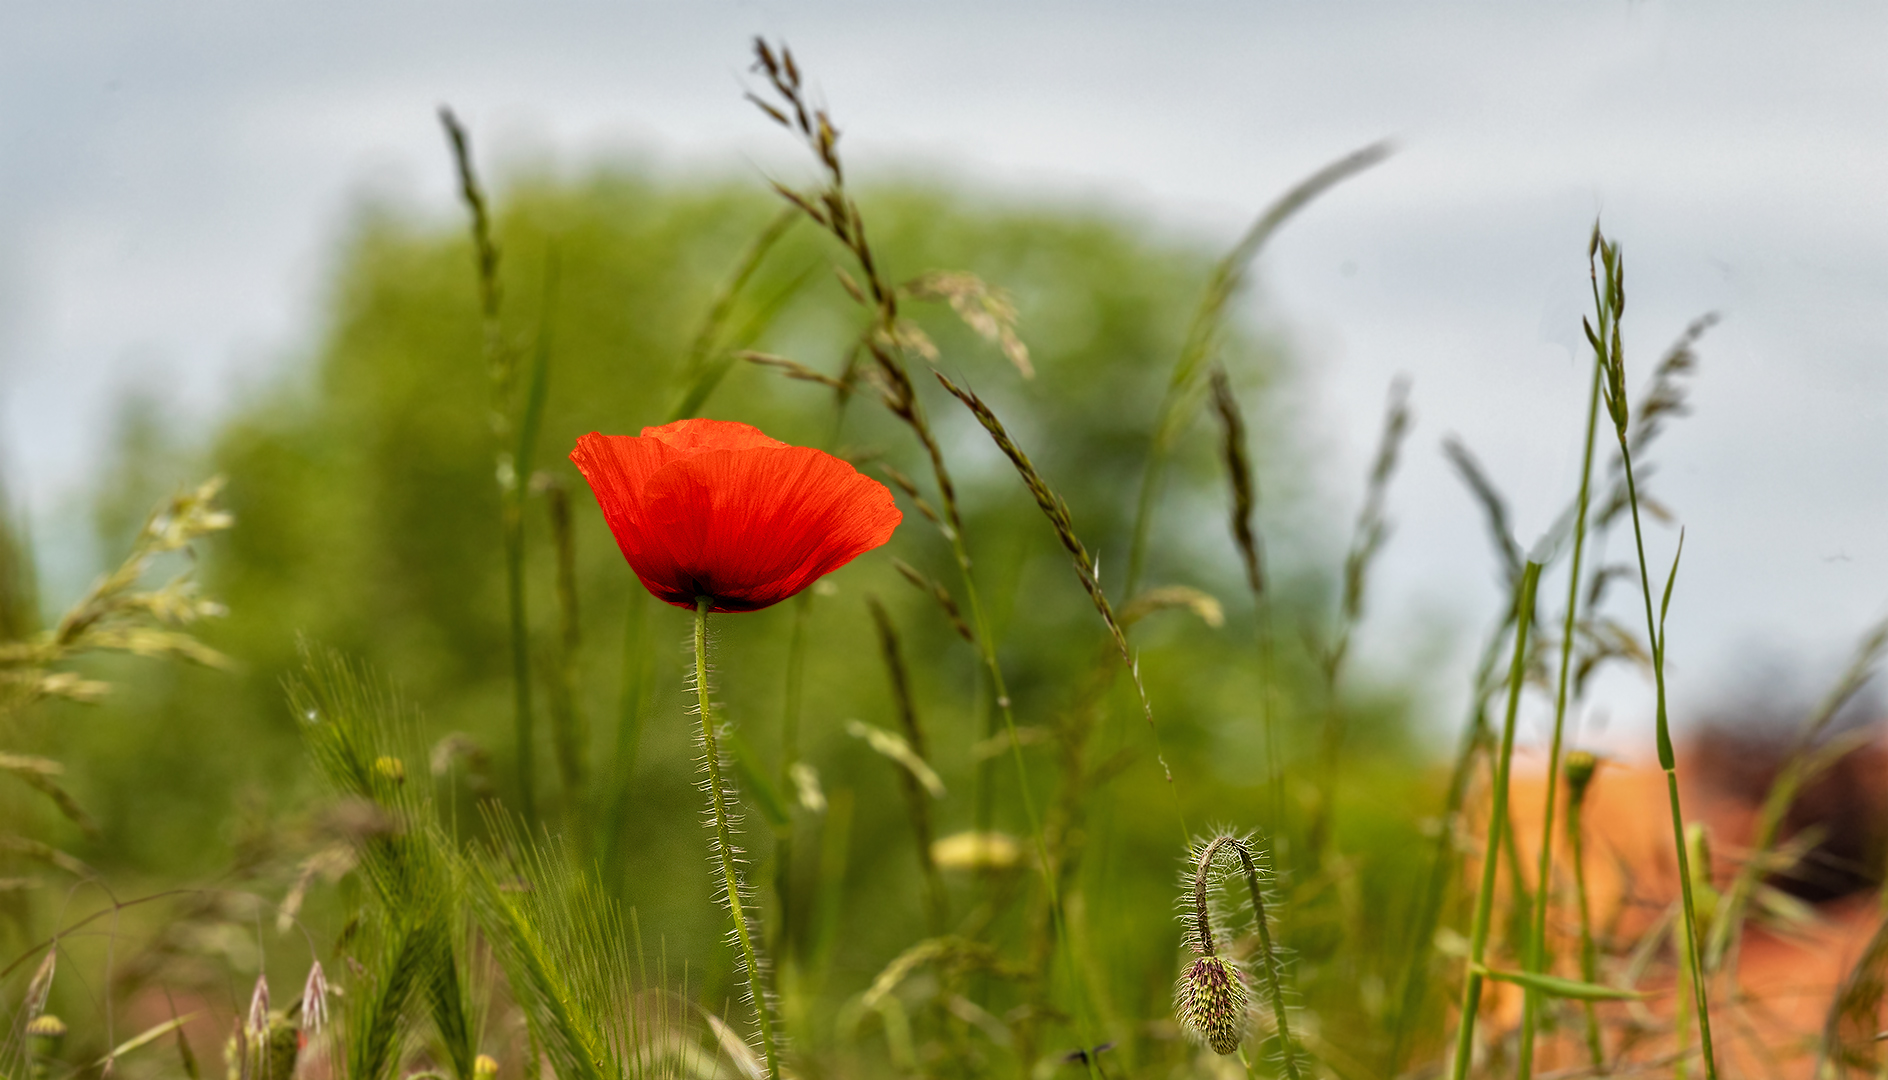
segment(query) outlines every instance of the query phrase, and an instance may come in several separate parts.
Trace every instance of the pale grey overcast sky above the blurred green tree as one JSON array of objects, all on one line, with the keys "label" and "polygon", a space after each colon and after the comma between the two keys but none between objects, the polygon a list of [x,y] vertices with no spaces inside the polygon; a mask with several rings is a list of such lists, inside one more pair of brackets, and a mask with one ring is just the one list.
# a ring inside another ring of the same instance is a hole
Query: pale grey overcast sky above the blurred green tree
[{"label": "pale grey overcast sky above the blurred green tree", "polygon": [[[1677,712],[1750,691],[1771,659],[1812,693],[1888,614],[1880,4],[9,4],[0,463],[42,540],[115,387],[217,415],[304,353],[362,194],[453,211],[440,102],[498,159],[755,174],[778,149],[738,100],[755,32],[812,68],[855,172],[948,162],[1216,245],[1395,138],[1274,242],[1254,317],[1305,361],[1333,521],[1386,385],[1414,380],[1363,648],[1424,674],[1444,714],[1497,599],[1437,447],[1456,432],[1484,457],[1524,544],[1565,502],[1595,213],[1627,249],[1635,385],[1692,317],[1726,319],[1660,449],[1688,529]],[[1654,532],[1656,563],[1673,540]],[[1609,710],[1631,727],[1641,683]]]}]

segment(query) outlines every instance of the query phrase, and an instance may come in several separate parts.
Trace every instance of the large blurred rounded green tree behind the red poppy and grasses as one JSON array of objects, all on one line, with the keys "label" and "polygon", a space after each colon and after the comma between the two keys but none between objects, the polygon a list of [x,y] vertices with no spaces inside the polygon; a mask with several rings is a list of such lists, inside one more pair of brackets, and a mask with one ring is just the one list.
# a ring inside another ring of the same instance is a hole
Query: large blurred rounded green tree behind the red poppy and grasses
[{"label": "large blurred rounded green tree behind the red poppy and grasses", "polygon": [[[940,347],[940,368],[997,408],[1069,500],[1076,531],[1101,553],[1104,583],[1118,589],[1155,402],[1216,253],[1101,210],[1025,206],[942,187],[868,191],[861,208],[874,247],[893,262],[893,279],[970,270],[1012,293],[1035,380],[1020,378],[948,308],[916,317]],[[661,938],[672,965],[687,959],[693,989],[716,1006],[733,987],[721,942],[725,916],[710,903],[702,863],[693,721],[683,714],[689,616],[642,595],[563,455],[582,432],[636,432],[670,419],[687,378],[682,361],[716,289],[776,211],[751,183],[600,170],[580,179],[525,176],[506,185],[497,221],[504,332],[525,355],[540,340],[551,349],[538,468],[563,483],[576,506],[576,704],[589,727],[589,782],[576,789],[559,782],[548,736],[553,559],[544,500],[527,508],[532,644],[546,676],[536,697],[544,827],[598,867],[606,891],[636,908],[644,937]],[[553,253],[557,283],[546,310]],[[736,332],[742,340],[734,344],[836,374],[859,330],[833,272],[836,262],[812,228],[789,232],[742,293],[729,325],[755,332]],[[1306,461],[1295,449],[1295,421],[1269,404],[1291,378],[1286,357],[1235,329],[1225,359],[1254,429],[1261,523],[1271,540],[1290,538],[1273,548],[1316,549],[1329,529],[1306,523]],[[929,487],[908,432],[868,395],[836,406],[818,385],[727,363],[702,415],[740,419],[836,453],[880,453]],[[1086,838],[1072,897],[1082,912],[1084,963],[1101,976],[1110,1027],[1169,1038],[1163,1023],[1180,940],[1171,918],[1172,876],[1184,850],[1176,799],[1193,831],[1208,823],[1280,827],[1265,819],[1252,602],[1227,532],[1216,432],[1199,417],[1169,470],[1148,582],[1216,595],[1227,625],[1212,629],[1188,612],[1163,612],[1133,631],[1176,778],[1171,795],[1131,689],[1114,685],[1093,706],[1084,704],[1084,687],[1110,665],[1108,644],[1054,532],[974,421],[927,376],[921,381],[963,487],[969,542],[1020,723],[1052,729],[1091,717],[1097,727],[1082,751],[1086,763],[1121,767],[1104,791],[1086,793],[1091,812],[1074,821]],[[30,738],[70,765],[72,787],[102,825],[96,838],[62,840],[115,878],[151,887],[217,878],[232,867],[238,880],[264,893],[283,887],[293,863],[321,835],[319,785],[283,697],[304,640],[378,667],[417,704],[429,742],[466,733],[491,753],[500,795],[515,795],[487,404],[463,225],[383,206],[361,213],[342,244],[329,315],[306,363],[223,421],[208,447],[176,449],[185,442],[160,419],[125,429],[123,461],[102,483],[108,548],[174,481],[206,472],[228,478],[236,527],[208,548],[200,574],[230,614],[204,638],[240,667],[215,672],[113,661],[106,667],[119,689],[108,704],[45,706]],[[891,570],[889,557],[899,557],[955,587],[946,542],[902,497],[901,504],[906,519],[889,548],[834,574],[831,593],[814,597],[808,610],[804,757],[829,795],[850,791],[857,806],[844,887],[821,891],[810,863],[795,880],[799,904],[818,904],[821,895],[844,904],[836,914],[802,916],[808,923],[795,931],[810,950],[816,920],[844,927],[831,942],[821,1029],[844,997],[923,937],[897,774],[844,733],[846,719],[895,727],[863,604],[868,593],[889,604],[902,634],[935,765],[950,789],[933,808],[940,835],[976,821],[974,748],[989,734],[972,650]],[[1331,706],[1297,646],[1301,629],[1316,633],[1329,623],[1327,583],[1342,559],[1337,544],[1329,551],[1329,565],[1276,568],[1288,680],[1282,765],[1293,795],[1308,784],[1314,725]],[[765,774],[778,768],[793,617],[789,602],[714,625],[717,700]],[[644,627],[640,638],[636,625]],[[640,699],[625,699],[625,642],[634,657],[649,657],[649,691]],[[1369,987],[1382,991],[1395,970],[1401,925],[1369,912],[1393,910],[1388,899],[1412,887],[1425,844],[1414,842],[1407,808],[1433,804],[1427,780],[1407,767],[1416,751],[1407,708],[1374,693],[1361,704],[1365,691],[1337,704],[1354,712],[1339,827],[1346,848],[1373,855],[1357,863],[1342,903],[1316,908],[1327,912],[1316,916],[1323,925],[1293,927],[1306,953],[1303,989],[1327,1037],[1352,1025],[1365,1031],[1380,1016],[1382,993],[1373,999]],[[1038,804],[1055,802],[1067,761],[1054,740],[1027,753]],[[1008,759],[999,757],[989,776],[995,825],[1025,836]],[[457,808],[457,827],[478,835],[464,767],[434,784]],[[60,835],[62,825],[49,816],[42,825]],[[816,852],[818,829],[816,816],[799,812],[795,850]],[[772,838],[759,812],[750,814],[746,842],[753,878],[767,886]],[[1025,876],[1020,887],[1035,886]],[[315,925],[332,912],[321,889],[312,903]],[[957,918],[984,895],[978,880],[952,878]],[[763,887],[763,897],[776,916],[772,893]],[[1029,927],[1020,908],[1010,904],[995,920],[995,937],[1021,955],[1018,942]],[[1333,959],[1337,942],[1346,957],[1340,963]],[[287,946],[272,938],[268,948]],[[804,1038],[821,1042],[825,1035]]]}]

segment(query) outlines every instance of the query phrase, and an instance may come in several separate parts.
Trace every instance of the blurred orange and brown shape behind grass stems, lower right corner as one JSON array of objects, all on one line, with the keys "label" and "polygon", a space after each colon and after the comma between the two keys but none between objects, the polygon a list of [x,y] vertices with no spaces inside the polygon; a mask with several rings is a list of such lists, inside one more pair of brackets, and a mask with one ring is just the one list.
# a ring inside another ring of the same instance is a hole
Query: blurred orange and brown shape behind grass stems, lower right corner
[{"label": "blurred orange and brown shape behind grass stems, lower right corner", "polygon": [[[1701,933],[1718,914],[1756,838],[1771,784],[1788,744],[1762,736],[1707,731],[1678,761],[1688,825],[1707,836],[1712,887],[1699,889]],[[1516,761],[1510,806],[1516,855],[1535,884],[1544,774]],[[1486,806],[1486,801],[1482,802]],[[1578,978],[1578,910],[1565,831],[1567,785],[1559,785],[1554,827],[1554,882],[1548,910],[1552,972]],[[1486,810],[1484,810],[1486,814]],[[1778,836],[1797,852],[1788,872],[1762,880],[1745,925],[1724,965],[1711,976],[1712,1040],[1722,1076],[1816,1076],[1831,1004],[1856,970],[1882,923],[1880,850],[1888,821],[1888,750],[1871,742],[1850,750],[1799,793]],[[1486,821],[1476,821],[1486,829]],[[1678,870],[1671,835],[1665,774],[1650,765],[1603,763],[1582,802],[1584,867],[1599,980],[1646,991],[1643,1001],[1603,1003],[1605,1057],[1612,1069],[1669,1067],[1678,984],[1675,950]],[[1476,850],[1480,846],[1476,844]],[[1510,882],[1503,874],[1503,882]],[[1503,965],[1520,961],[1518,942],[1505,942]],[[1879,972],[1888,976],[1888,970]],[[1867,987],[1863,987],[1867,989]],[[1522,995],[1499,986],[1484,1001],[1490,1040],[1510,1046],[1522,1020]],[[1571,1003],[1569,1003],[1571,1004]],[[1850,1067],[1875,1074],[1882,1059],[1880,993],[1858,997],[1839,1033]],[[1695,1021],[1686,1044],[1695,1048]],[[1592,1065],[1578,1006],[1556,1010],[1535,1050],[1535,1074],[1584,1072]],[[1831,1074],[1841,1074],[1837,1069]]]}]

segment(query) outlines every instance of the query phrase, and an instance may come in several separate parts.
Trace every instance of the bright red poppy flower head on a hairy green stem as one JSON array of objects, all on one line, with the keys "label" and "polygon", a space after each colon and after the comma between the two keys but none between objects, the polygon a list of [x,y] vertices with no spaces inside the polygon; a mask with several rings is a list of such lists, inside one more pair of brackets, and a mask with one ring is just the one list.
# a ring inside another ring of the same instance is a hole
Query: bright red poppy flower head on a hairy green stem
[{"label": "bright red poppy flower head on a hairy green stem", "polygon": [[631,570],[678,608],[778,604],[891,540],[884,483],[806,446],[721,419],[589,432],[570,451]]}]

